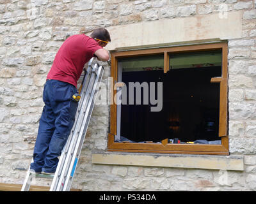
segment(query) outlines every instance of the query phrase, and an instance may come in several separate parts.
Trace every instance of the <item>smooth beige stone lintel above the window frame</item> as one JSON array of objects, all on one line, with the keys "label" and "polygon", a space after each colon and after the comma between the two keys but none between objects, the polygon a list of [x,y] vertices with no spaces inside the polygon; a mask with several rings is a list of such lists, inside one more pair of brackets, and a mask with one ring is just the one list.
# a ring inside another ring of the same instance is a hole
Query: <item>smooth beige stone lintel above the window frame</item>
[{"label": "smooth beige stone lintel above the window frame", "polygon": [[225,15],[212,13],[186,18],[169,18],[152,22],[108,27],[111,43],[108,50],[161,47],[189,41],[230,40],[242,38],[241,11]]}]

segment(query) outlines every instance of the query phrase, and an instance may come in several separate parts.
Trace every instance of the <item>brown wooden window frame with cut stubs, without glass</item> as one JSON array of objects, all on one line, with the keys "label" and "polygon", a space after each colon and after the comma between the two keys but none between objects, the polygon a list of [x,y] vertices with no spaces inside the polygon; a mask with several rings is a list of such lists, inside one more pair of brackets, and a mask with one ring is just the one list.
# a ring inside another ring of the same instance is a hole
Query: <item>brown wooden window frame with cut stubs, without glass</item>
[{"label": "brown wooden window frame with cut stubs, without glass", "polygon": [[[108,134],[108,151],[117,152],[151,152],[167,154],[216,154],[229,155],[228,135],[227,135],[227,92],[228,92],[228,45],[226,42],[209,43],[203,45],[186,45],[180,47],[168,48],[150,48],[145,50],[130,50],[111,52],[111,77],[113,82],[118,82],[118,59],[121,57],[138,57],[143,55],[164,55],[164,73],[169,69],[169,55],[184,52],[204,52],[211,50],[221,50],[222,52],[222,73],[221,77],[212,77],[211,83],[220,84],[220,122],[219,136],[221,145],[204,145],[204,144],[171,144],[171,143],[122,143],[115,142],[117,131],[117,106],[114,103],[110,105],[110,133]],[[111,89],[111,97],[116,96],[116,90]],[[115,100],[114,100],[115,101]]]}]

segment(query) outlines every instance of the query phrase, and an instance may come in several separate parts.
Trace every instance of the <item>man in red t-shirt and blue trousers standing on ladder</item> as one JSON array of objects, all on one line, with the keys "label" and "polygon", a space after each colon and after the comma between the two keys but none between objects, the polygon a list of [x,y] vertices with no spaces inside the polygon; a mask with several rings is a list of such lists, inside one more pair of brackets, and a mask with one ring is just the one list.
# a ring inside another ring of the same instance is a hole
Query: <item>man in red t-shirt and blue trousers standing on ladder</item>
[{"label": "man in red t-shirt and blue trousers standing on ladder", "polygon": [[103,47],[111,41],[104,28],[95,29],[90,36],[70,36],[58,50],[44,86],[45,103],[39,122],[38,135],[30,169],[36,173],[53,174],[58,165],[68,135],[74,124],[77,102],[77,80],[83,67],[92,57],[108,61],[109,53]]}]

